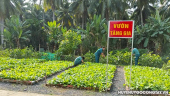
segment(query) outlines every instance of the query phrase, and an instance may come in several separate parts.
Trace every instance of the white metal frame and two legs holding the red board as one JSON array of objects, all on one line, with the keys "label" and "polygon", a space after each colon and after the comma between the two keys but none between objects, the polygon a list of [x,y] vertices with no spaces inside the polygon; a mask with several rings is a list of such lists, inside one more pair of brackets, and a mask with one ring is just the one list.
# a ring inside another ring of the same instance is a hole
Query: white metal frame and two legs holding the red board
[{"label": "white metal frame and two legs holding the red board", "polygon": [[[109,37],[110,22],[111,21],[132,21],[132,37]],[[108,52],[109,52],[109,38],[131,38],[132,39],[132,49],[133,49],[133,39],[134,39],[134,20],[110,20],[108,21],[108,37],[107,37],[107,66],[106,66],[106,92],[107,92],[107,72],[108,72]],[[131,52],[131,64],[130,64],[130,83],[131,83],[131,72],[132,72],[132,52]],[[129,86],[130,87],[130,86]]]}]

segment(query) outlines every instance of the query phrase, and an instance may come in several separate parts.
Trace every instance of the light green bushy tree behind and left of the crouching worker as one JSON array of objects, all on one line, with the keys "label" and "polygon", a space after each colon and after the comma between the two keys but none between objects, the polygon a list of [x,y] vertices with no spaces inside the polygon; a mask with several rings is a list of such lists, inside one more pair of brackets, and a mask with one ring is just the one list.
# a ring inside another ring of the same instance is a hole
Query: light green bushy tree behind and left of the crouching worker
[{"label": "light green bushy tree behind and left of the crouching worker", "polygon": [[63,55],[73,54],[74,50],[77,49],[78,45],[81,44],[81,35],[76,32],[69,30],[63,32],[64,40],[60,42],[59,52]]}]

